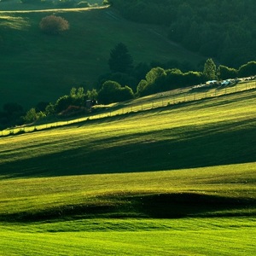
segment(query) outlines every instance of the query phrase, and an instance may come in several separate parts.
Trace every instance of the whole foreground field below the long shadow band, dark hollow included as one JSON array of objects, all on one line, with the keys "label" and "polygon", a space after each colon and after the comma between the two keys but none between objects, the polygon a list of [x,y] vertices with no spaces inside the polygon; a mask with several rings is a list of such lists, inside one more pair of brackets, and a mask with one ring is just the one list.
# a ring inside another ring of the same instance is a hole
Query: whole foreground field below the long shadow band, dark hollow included
[{"label": "whole foreground field below the long shadow band, dark hollow included", "polygon": [[1,253],[253,255],[255,171],[250,163],[2,179]]}]

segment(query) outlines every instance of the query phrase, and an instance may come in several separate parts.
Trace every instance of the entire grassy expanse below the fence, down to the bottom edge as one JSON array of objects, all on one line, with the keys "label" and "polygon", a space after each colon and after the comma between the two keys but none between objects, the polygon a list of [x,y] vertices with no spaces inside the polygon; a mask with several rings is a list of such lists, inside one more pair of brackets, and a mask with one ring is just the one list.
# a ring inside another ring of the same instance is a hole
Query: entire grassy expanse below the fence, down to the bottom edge
[{"label": "entire grassy expanse below the fence, down to the bottom edge", "polygon": [[1,137],[1,253],[253,255],[255,96]]}]

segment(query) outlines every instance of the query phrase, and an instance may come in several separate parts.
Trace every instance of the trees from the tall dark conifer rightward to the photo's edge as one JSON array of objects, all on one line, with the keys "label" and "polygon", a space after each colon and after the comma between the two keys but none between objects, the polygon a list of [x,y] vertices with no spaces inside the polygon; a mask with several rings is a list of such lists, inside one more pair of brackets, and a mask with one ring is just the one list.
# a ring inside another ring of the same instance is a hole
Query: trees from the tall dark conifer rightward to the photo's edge
[{"label": "trees from the tall dark conifer rightward to the photo's edge", "polygon": [[[154,65],[148,66],[145,63],[140,63],[134,67],[132,56],[125,44],[122,43],[117,44],[111,50],[108,65],[111,73],[100,79],[100,91],[106,80],[113,80],[121,85],[119,90],[121,88],[127,89],[129,86],[136,96],[145,96],[159,91],[201,84],[212,79],[235,79],[256,74],[256,61],[249,61],[236,69],[224,65],[217,67],[212,58],[207,59],[201,71],[183,72],[177,67],[165,68],[165,65],[154,67]],[[115,102],[116,99],[113,100],[109,96],[111,90],[109,90],[109,94],[106,93],[106,90],[108,90],[107,87],[104,88],[104,94],[99,94],[101,96],[99,98],[100,102]],[[131,93],[127,95],[132,96]]]}]

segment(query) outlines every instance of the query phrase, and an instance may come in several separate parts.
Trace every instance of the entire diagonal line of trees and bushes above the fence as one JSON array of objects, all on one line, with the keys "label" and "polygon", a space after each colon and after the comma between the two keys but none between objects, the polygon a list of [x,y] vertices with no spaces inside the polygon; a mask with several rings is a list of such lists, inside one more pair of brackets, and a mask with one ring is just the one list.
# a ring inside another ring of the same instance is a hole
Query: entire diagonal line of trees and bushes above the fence
[{"label": "entire diagonal line of trees and bushes above the fence", "polygon": [[49,116],[68,117],[90,113],[96,102],[122,102],[134,97],[202,84],[207,80],[233,79],[256,74],[256,61],[249,61],[236,69],[224,65],[217,67],[212,58],[207,59],[202,71],[183,72],[177,67],[152,67],[146,63],[134,66],[133,58],[123,43],[111,49],[108,66],[110,73],[98,79],[96,89],[84,91],[83,87],[72,88],[68,95],[60,96],[55,102],[39,102],[28,111],[15,102],[4,104],[3,111],[0,111],[0,126],[3,129]]}]

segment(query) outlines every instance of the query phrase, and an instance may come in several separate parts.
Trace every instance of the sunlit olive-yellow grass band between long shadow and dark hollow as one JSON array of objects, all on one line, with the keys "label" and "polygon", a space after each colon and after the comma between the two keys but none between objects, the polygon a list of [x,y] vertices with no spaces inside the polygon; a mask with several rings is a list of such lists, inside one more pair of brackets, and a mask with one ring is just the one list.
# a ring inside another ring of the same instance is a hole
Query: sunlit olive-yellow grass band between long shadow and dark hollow
[{"label": "sunlit olive-yellow grass band between long shadow and dark hollow", "polygon": [[36,215],[53,208],[61,217],[61,207],[119,205],[120,201],[132,205],[130,197],[151,194],[196,193],[249,200],[256,195],[255,173],[255,163],[251,163],[172,172],[2,180],[0,215]]}]

